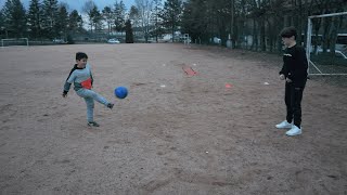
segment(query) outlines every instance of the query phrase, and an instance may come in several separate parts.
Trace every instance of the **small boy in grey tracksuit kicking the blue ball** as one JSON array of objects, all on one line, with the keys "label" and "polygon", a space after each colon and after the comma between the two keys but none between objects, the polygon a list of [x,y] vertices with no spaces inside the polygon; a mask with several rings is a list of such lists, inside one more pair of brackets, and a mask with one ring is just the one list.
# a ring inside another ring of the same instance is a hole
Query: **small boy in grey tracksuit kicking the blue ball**
[{"label": "small boy in grey tracksuit kicking the blue ball", "polygon": [[114,104],[108,102],[105,98],[92,91],[93,77],[91,74],[90,65],[87,64],[88,55],[82,52],[76,53],[76,64],[70,70],[63,91],[63,98],[67,96],[67,92],[74,82],[74,90],[77,95],[83,98],[87,104],[87,121],[90,127],[99,127],[93,119],[94,100],[108,108],[113,108]]}]

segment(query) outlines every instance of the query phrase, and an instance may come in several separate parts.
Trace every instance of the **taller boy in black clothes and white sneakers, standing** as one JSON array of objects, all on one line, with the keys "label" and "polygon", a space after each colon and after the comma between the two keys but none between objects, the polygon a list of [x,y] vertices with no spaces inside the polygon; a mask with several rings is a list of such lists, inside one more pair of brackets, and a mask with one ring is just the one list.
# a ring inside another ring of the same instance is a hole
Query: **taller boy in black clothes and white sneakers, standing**
[{"label": "taller boy in black clothes and white sneakers, standing", "polygon": [[[283,67],[280,79],[285,80],[286,120],[278,123],[279,129],[290,129],[286,135],[301,134],[301,100],[307,81],[307,57],[305,49],[296,44],[297,32],[294,27],[281,31],[286,49],[283,54]],[[293,121],[294,120],[294,121]]]}]

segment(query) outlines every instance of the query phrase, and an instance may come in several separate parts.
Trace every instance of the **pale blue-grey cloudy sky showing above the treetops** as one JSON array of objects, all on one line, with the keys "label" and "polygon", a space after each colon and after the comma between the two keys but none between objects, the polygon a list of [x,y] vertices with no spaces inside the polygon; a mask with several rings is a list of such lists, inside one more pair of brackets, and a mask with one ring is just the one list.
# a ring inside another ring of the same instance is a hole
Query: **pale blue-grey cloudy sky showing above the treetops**
[{"label": "pale blue-grey cloudy sky showing above the treetops", "polygon": [[[87,0],[59,0],[59,2],[65,2],[69,6],[69,11],[77,10],[78,12],[81,12],[82,6],[85,5],[85,2]],[[103,8],[107,5],[113,5],[116,0],[93,0],[94,3],[97,4],[98,9],[101,11]],[[119,2],[120,0],[118,0]],[[7,0],[0,0],[0,8],[2,9],[3,4],[7,2]],[[26,10],[29,8],[29,2],[30,0],[21,0],[23,5],[25,6]],[[42,2],[42,0],[41,0]],[[134,4],[134,0],[123,0],[125,3],[127,11],[129,11],[130,6]]]}]

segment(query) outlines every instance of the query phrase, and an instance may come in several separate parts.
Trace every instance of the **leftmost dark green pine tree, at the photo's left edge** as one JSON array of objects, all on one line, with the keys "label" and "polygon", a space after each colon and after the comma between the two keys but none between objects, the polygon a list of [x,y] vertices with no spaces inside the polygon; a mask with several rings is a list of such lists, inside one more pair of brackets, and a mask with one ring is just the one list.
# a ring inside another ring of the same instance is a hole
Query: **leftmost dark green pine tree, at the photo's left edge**
[{"label": "leftmost dark green pine tree, at the photo's left edge", "polygon": [[3,26],[8,37],[26,36],[26,13],[20,0],[8,0],[3,8]]}]

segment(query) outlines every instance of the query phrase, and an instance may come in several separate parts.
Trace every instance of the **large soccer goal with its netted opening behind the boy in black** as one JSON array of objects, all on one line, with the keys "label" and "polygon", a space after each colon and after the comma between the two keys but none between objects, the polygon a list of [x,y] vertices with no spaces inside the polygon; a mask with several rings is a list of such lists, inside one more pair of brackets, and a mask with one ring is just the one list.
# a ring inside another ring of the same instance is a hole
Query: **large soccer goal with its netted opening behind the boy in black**
[{"label": "large soccer goal with its netted opening behind the boy in black", "polygon": [[347,12],[308,17],[309,75],[347,76]]}]

